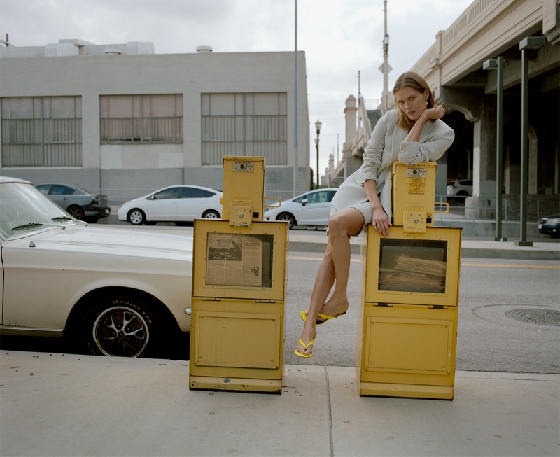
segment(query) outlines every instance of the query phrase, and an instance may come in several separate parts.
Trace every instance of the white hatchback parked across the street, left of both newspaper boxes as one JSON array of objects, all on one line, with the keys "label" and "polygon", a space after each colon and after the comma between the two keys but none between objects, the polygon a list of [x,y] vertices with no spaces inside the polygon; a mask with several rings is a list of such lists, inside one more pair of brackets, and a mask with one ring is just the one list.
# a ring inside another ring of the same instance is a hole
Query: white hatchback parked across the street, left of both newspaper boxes
[{"label": "white hatchback parked across the street, left of both newspaper boxes", "polygon": [[126,202],[118,209],[118,220],[132,225],[158,222],[192,222],[220,219],[222,192],[197,185],[171,185]]}]

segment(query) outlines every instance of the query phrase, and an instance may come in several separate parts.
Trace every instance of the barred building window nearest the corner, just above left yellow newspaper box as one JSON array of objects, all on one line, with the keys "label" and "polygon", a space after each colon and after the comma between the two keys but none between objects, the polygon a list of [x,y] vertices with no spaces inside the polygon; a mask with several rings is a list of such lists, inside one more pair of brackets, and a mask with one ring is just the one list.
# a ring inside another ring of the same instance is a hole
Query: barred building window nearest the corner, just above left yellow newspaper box
[{"label": "barred building window nearest the corner, just above left yellow newspaper box", "polygon": [[221,165],[224,155],[265,157],[288,163],[286,92],[202,94],[202,164]]}]

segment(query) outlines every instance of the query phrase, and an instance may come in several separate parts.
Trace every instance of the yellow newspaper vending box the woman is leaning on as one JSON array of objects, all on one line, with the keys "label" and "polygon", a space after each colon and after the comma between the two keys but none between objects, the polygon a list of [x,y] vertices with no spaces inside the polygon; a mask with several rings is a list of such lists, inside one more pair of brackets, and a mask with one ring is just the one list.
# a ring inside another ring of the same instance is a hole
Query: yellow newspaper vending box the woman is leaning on
[{"label": "yellow newspaper vending box the woman is leaning on", "polygon": [[461,228],[433,227],[435,164],[393,178],[388,237],[363,234],[356,380],[360,395],[452,400]]}]

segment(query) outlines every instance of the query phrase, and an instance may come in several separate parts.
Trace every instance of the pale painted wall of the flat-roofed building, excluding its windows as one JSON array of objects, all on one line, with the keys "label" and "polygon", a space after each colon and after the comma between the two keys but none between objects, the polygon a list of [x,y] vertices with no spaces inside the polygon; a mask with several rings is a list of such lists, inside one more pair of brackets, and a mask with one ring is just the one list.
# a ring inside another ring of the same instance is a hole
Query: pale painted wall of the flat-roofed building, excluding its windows
[{"label": "pale painted wall of the flat-roofed building, excluding its windows", "polygon": [[[266,189],[303,192],[309,189],[304,52],[298,52],[297,59],[295,106],[293,52],[155,55],[151,43],[99,46],[82,41],[61,41],[43,48],[0,48],[0,97],[79,96],[83,123],[82,167],[2,167],[0,163],[0,174],[34,183],[77,183],[109,190],[109,195],[111,190],[154,190],[177,183],[222,188],[221,165],[202,165],[201,95],[285,92],[287,163],[267,166]],[[99,96],[111,94],[182,94],[183,143],[102,144]]]}]

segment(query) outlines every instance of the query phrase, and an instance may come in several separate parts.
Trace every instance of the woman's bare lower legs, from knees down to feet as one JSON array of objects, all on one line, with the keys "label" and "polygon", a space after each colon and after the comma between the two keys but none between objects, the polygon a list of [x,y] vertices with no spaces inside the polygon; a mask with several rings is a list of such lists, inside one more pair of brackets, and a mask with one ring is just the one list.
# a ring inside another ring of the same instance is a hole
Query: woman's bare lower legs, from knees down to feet
[{"label": "woman's bare lower legs, from knees down to feet", "polygon": [[[317,272],[309,311],[307,311],[307,321],[304,323],[301,336],[305,344],[309,343],[317,333],[316,320],[321,311],[335,316],[348,309],[346,288],[350,271],[350,236],[357,234],[362,227],[363,215],[354,208],[340,211],[329,220],[327,250]],[[325,304],[333,284],[335,290]],[[311,348],[312,346],[309,346],[306,350],[301,344],[297,344],[297,350],[301,353],[311,353]]]}]

